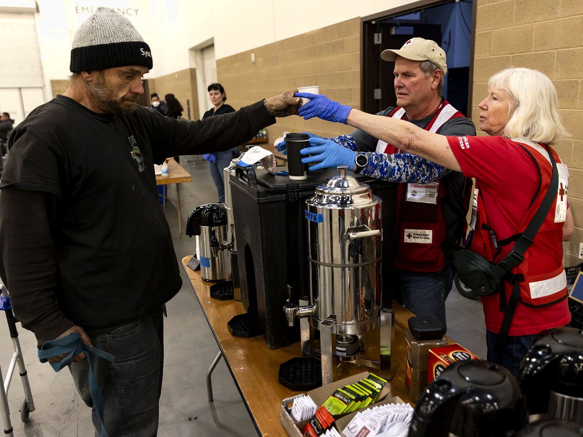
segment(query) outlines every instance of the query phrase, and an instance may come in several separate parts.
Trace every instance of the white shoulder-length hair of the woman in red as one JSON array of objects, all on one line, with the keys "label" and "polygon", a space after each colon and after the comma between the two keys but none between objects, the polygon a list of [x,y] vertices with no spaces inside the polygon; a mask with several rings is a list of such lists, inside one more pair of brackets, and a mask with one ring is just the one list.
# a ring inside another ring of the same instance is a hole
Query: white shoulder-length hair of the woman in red
[{"label": "white shoulder-length hair of the woman in red", "polygon": [[552,144],[569,136],[557,110],[557,91],[545,74],[530,68],[507,68],[491,76],[488,87],[507,93],[510,118],[504,126],[505,137]]}]

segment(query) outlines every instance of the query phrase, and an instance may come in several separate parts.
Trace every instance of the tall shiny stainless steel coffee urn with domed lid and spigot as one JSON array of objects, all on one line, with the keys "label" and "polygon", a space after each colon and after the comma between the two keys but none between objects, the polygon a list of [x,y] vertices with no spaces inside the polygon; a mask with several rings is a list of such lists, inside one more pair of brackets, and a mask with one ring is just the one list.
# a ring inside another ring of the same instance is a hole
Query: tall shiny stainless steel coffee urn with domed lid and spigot
[{"label": "tall shiny stainless steel coffee urn with domed lid and spigot", "polygon": [[[364,333],[381,325],[381,200],[346,175],[346,167],[338,168],[340,174],[318,185],[305,201],[309,301],[288,301],[284,307],[290,326],[300,318],[304,355],[311,350],[310,327],[319,330],[324,384],[332,382],[332,355],[355,357]],[[384,316],[390,329],[392,310]],[[390,334],[380,337],[389,343],[380,350],[390,351]]]}]

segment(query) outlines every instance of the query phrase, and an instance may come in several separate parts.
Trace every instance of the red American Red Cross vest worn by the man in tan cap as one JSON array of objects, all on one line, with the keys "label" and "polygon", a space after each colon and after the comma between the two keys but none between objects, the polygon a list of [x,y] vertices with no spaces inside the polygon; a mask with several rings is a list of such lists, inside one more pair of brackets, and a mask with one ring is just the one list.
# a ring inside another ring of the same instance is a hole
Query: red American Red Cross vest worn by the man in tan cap
[{"label": "red American Red Cross vest worn by the man in tan cap", "polygon": [[[405,119],[405,110],[396,107],[388,117]],[[449,119],[463,117],[461,112],[444,101],[436,115],[425,126],[426,131],[437,132]],[[395,146],[386,145],[379,140],[377,153],[401,153]],[[441,244],[445,239],[445,219],[441,203],[445,196],[445,184],[437,185],[436,203],[417,203],[407,201],[407,192],[423,189],[420,184],[399,184],[396,207],[396,255],[395,268],[413,270],[415,272],[439,272],[445,267],[444,251]],[[423,242],[422,242],[423,241]]]}]

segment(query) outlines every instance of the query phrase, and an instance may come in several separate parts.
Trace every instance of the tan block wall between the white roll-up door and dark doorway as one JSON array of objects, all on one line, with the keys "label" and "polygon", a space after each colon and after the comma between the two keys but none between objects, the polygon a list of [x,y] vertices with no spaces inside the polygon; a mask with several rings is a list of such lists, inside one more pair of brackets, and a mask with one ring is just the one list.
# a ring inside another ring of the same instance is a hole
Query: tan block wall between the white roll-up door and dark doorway
[{"label": "tan block wall between the white roll-up door and dark doorway", "polygon": [[[251,54],[255,54],[255,63]],[[217,77],[235,109],[301,86],[360,108],[360,19],[347,20],[287,40],[217,59]],[[354,129],[319,119],[291,116],[270,126],[269,141],[283,131],[337,136]]]}]

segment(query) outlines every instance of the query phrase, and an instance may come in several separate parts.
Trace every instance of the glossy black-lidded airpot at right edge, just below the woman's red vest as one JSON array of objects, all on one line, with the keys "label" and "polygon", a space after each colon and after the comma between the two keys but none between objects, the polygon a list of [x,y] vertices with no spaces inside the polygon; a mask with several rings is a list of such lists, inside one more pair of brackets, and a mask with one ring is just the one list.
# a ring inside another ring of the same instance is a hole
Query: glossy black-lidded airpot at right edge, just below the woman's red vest
[{"label": "glossy black-lidded airpot at right edge, just below the woman's red vest", "polygon": [[583,425],[583,330],[545,330],[522,358],[517,378],[529,413]]}]

